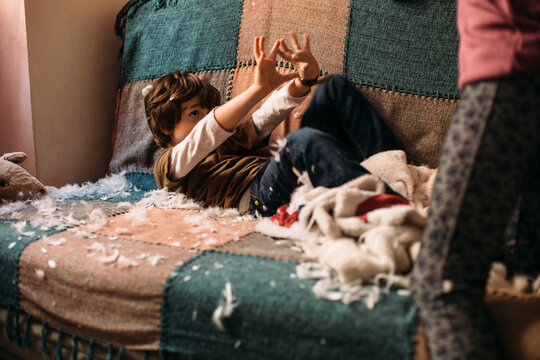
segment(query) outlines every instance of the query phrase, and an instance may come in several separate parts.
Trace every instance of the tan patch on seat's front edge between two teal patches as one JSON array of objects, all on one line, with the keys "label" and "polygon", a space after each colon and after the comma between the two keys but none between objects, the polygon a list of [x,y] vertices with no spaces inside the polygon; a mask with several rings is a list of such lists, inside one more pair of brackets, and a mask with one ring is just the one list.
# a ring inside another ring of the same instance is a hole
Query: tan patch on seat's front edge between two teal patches
[{"label": "tan patch on seat's front edge between two teal patches", "polygon": [[55,234],[21,256],[21,308],[82,337],[157,350],[163,284],[195,255],[124,237]]}]

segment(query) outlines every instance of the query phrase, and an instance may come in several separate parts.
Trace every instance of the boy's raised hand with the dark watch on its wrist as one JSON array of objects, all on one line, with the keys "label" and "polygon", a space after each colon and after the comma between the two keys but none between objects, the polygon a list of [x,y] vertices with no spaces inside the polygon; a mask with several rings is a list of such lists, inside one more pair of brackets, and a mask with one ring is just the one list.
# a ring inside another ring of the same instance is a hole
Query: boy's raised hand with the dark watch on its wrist
[{"label": "boy's raised hand with the dark watch on its wrist", "polygon": [[317,60],[309,48],[309,35],[307,33],[304,34],[304,47],[298,45],[294,31],[289,31],[289,36],[291,38],[292,49],[287,47],[285,40],[279,40],[279,56],[292,63],[301,78],[306,80],[315,79],[319,76],[320,69]]}]

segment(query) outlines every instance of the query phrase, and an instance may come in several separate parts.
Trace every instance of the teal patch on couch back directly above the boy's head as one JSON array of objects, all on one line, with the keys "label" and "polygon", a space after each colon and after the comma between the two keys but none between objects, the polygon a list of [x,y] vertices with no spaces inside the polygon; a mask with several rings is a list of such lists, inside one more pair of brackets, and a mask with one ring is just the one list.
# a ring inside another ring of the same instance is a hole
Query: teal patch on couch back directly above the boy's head
[{"label": "teal patch on couch back directly above the boy's head", "polygon": [[126,19],[121,81],[236,66],[241,0],[147,2]]}]

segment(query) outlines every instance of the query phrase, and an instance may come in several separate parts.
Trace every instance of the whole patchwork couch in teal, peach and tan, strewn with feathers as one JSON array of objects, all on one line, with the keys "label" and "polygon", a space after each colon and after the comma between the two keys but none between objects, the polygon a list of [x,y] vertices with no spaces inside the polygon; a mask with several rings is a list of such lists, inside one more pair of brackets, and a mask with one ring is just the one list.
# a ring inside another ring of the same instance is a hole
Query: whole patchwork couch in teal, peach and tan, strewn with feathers
[{"label": "whole patchwork couch in teal, peach and tan, strewn with feathers", "polygon": [[[355,83],[407,160],[435,168],[459,102],[455,16],[447,0],[127,2],[110,174],[0,207],[0,357],[429,358],[403,289],[370,285],[371,306],[321,299],[298,276],[306,254],[259,219],[158,191],[141,91],[180,69],[226,101],[253,79],[254,36],[309,32],[322,74]],[[298,128],[309,99],[271,141]],[[540,298],[490,287],[486,299],[505,355],[538,358]]]}]

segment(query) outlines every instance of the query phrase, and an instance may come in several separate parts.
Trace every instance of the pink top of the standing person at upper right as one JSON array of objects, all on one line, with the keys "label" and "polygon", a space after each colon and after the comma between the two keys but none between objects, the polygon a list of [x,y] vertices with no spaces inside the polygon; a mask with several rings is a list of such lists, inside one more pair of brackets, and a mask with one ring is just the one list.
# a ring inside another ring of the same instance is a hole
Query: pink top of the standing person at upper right
[{"label": "pink top of the standing person at upper right", "polygon": [[540,1],[458,0],[459,88],[540,70]]}]

